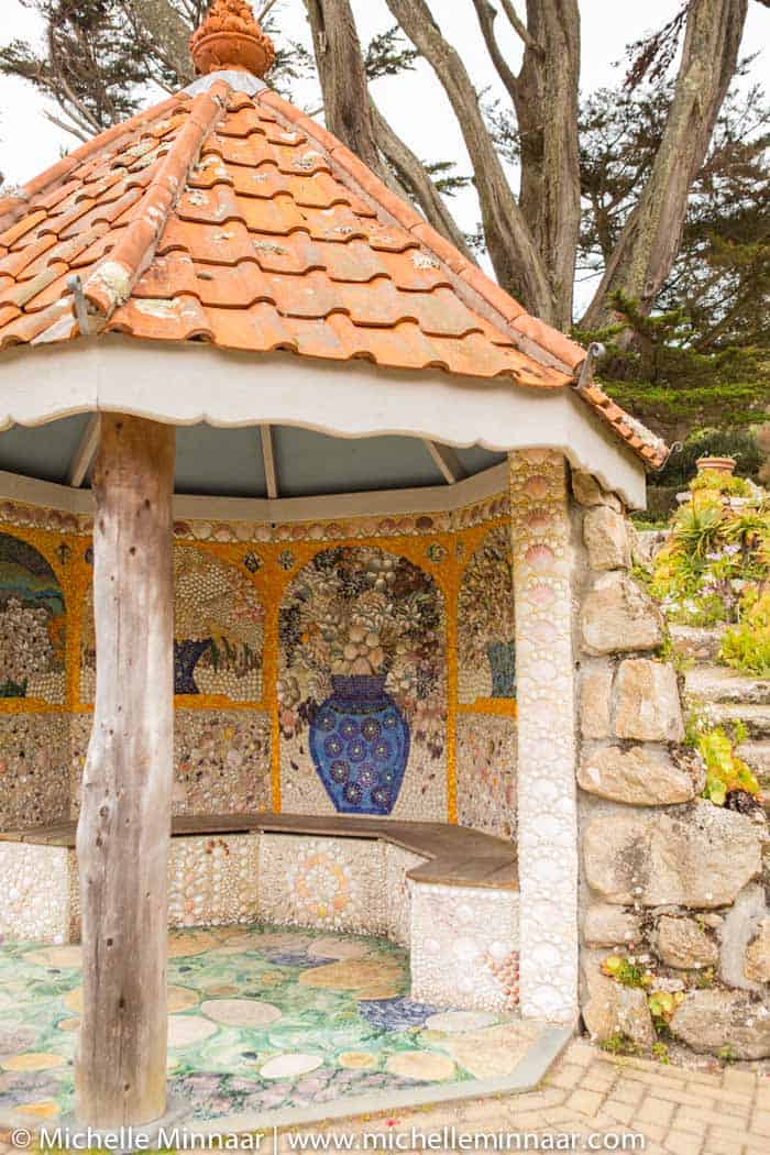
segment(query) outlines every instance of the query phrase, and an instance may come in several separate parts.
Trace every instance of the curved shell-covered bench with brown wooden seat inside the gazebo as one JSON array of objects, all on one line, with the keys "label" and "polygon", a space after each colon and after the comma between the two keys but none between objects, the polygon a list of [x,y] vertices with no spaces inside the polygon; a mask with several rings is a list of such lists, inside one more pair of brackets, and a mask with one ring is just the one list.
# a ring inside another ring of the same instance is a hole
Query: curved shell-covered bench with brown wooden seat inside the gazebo
[{"label": "curved shell-covered bench with brown wooden seat inside the gazebo", "polygon": [[[76,941],[75,824],[0,835],[0,931]],[[515,1006],[515,848],[466,827],[298,814],[174,818],[172,927],[306,926],[410,951],[412,997]]]}]

